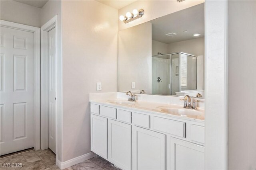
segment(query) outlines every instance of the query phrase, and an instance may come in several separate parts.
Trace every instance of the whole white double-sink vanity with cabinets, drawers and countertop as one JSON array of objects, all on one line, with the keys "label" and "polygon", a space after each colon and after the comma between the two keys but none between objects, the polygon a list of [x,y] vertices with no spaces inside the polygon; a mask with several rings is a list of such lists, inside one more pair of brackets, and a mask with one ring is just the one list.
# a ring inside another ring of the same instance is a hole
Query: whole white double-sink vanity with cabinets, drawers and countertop
[{"label": "whole white double-sink vanity with cabinets, drawers and countertop", "polygon": [[182,106],[91,100],[91,150],[121,169],[204,169],[204,110]]}]

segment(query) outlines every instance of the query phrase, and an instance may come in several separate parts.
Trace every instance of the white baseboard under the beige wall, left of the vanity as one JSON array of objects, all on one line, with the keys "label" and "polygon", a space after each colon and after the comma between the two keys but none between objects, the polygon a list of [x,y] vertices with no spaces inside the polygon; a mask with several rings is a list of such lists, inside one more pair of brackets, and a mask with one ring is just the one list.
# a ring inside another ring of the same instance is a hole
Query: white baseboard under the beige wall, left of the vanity
[{"label": "white baseboard under the beige wall, left of the vanity", "polygon": [[65,162],[60,162],[60,160],[57,159],[56,161],[56,164],[58,165],[58,167],[60,167],[60,169],[65,169],[65,168],[68,168],[70,166],[73,166],[75,164],[78,164],[80,162],[83,162],[85,160],[88,160],[90,158],[93,158],[95,157],[97,154],[94,153],[94,152],[89,152],[87,154],[84,154],[84,155],[81,155],[81,156],[78,156],[76,158],[73,158],[73,159],[70,159],[70,160],[67,160]]}]

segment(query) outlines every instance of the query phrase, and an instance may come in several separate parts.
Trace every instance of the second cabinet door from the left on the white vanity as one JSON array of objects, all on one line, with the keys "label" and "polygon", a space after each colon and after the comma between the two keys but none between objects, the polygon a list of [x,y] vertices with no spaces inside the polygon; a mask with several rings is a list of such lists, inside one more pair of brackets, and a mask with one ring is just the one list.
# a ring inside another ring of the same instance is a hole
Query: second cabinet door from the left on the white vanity
[{"label": "second cabinet door from the left on the white vanity", "polygon": [[108,160],[124,170],[132,169],[132,125],[108,120]]}]

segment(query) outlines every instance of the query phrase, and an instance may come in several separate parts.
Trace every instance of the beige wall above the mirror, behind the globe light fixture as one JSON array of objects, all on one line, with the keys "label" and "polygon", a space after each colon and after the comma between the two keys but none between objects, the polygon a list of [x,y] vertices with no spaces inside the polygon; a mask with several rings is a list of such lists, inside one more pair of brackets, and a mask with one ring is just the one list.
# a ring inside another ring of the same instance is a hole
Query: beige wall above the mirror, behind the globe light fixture
[{"label": "beige wall above the mirror, behind the globe light fixture", "polygon": [[118,30],[154,20],[201,3],[204,3],[204,0],[186,0],[181,3],[176,0],[138,0],[118,10],[118,16],[125,15],[126,12],[132,12],[134,9],[139,10],[140,8],[144,9],[145,14],[142,18],[129,23],[118,20]]}]

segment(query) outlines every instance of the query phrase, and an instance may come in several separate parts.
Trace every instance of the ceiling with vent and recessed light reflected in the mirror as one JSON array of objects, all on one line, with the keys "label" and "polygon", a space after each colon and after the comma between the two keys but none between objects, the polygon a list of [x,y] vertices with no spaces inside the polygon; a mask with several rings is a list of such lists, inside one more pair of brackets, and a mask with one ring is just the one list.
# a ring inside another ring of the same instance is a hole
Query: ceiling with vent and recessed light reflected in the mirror
[{"label": "ceiling with vent and recessed light reflected in the mirror", "polygon": [[[186,8],[150,21],[152,23],[152,39],[162,43],[174,43],[204,37],[204,3]],[[184,32],[187,30],[187,32]],[[177,35],[167,36],[167,33]],[[194,37],[194,33],[200,36]]]}]

